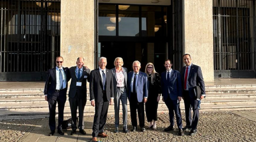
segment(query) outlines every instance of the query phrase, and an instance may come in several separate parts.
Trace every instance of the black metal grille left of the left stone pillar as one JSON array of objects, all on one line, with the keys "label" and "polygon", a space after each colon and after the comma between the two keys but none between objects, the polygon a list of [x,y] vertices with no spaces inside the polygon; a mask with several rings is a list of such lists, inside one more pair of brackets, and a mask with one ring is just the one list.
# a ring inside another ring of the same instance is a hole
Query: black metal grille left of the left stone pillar
[{"label": "black metal grille left of the left stone pillar", "polygon": [[0,80],[29,72],[42,80],[60,55],[60,0],[0,0],[0,36]]}]

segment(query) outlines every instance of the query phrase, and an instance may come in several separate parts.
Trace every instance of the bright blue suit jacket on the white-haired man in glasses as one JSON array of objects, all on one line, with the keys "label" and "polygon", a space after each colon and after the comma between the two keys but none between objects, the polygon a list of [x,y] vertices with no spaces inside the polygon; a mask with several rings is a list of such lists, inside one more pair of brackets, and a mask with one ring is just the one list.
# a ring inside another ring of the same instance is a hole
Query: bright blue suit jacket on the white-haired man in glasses
[{"label": "bright blue suit jacket on the white-haired man in glasses", "polygon": [[[132,83],[132,76],[133,71],[129,72],[127,75],[127,89],[128,89],[128,98],[130,100],[130,94],[131,94],[131,83]],[[148,97],[148,88],[149,88],[149,81],[148,76],[144,72],[139,72],[138,75],[138,84],[137,84],[137,99],[138,102],[142,102],[144,97]],[[135,82],[134,82],[135,83]]]}]

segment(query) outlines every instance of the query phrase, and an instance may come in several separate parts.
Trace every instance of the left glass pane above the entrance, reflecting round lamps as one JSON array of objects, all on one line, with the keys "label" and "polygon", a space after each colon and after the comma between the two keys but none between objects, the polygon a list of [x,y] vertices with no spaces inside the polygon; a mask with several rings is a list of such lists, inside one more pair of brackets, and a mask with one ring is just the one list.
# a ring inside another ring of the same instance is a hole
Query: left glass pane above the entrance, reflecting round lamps
[{"label": "left glass pane above the entrance, reflecting round lamps", "polygon": [[115,32],[116,6],[115,5],[99,5],[98,20],[99,20],[98,22],[99,35],[112,35],[112,36],[116,35],[116,32]]}]

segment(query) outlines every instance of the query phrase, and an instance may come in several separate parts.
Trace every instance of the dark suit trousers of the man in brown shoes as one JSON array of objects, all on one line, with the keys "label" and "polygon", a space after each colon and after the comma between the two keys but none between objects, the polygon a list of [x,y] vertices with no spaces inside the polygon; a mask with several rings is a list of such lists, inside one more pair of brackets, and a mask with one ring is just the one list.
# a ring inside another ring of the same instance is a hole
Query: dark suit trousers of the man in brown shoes
[{"label": "dark suit trousers of the man in brown shoes", "polygon": [[103,93],[103,101],[95,102],[94,123],[92,126],[92,137],[97,137],[99,133],[104,132],[104,126],[107,121],[107,112],[109,101],[107,100],[106,92]]}]

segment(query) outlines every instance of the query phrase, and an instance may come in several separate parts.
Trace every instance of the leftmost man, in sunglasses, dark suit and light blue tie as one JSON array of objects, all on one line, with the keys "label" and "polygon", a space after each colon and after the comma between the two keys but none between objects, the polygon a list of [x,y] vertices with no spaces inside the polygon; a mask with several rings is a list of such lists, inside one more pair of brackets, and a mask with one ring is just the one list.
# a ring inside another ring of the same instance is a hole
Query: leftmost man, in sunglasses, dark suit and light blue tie
[{"label": "leftmost man, in sunglasses, dark suit and light blue tie", "polygon": [[46,84],[44,87],[45,100],[49,104],[49,126],[50,133],[48,136],[52,136],[55,133],[55,110],[58,102],[58,133],[64,135],[62,131],[62,122],[64,117],[64,107],[66,102],[66,92],[68,88],[68,67],[62,67],[63,58],[56,58],[56,67],[48,71],[46,78]]}]

